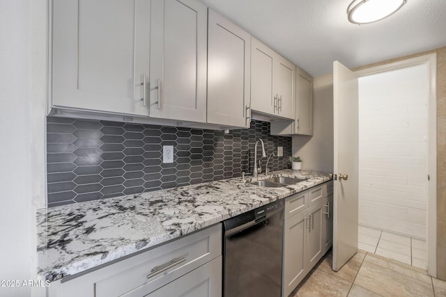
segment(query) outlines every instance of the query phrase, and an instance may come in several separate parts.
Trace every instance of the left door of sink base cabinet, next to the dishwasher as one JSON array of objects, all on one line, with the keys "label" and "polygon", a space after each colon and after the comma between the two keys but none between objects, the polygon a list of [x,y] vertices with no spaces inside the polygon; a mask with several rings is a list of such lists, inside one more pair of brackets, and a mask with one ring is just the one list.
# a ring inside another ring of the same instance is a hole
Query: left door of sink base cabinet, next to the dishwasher
[{"label": "left door of sink base cabinet, next to the dishwasher", "polygon": [[284,222],[283,296],[289,296],[308,272],[305,263],[305,237],[308,226],[307,211],[292,216]]}]

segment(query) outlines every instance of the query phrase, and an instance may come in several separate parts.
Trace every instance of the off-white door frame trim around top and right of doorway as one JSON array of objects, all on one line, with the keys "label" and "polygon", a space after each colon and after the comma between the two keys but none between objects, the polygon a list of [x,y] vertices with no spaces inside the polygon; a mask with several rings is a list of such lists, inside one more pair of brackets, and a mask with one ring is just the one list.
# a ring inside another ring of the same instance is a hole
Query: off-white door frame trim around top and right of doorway
[{"label": "off-white door frame trim around top and right of doorway", "polygon": [[428,74],[428,174],[426,214],[427,273],[437,276],[437,54],[426,54],[402,61],[385,63],[357,70],[358,77],[387,72],[415,65],[426,65]]}]

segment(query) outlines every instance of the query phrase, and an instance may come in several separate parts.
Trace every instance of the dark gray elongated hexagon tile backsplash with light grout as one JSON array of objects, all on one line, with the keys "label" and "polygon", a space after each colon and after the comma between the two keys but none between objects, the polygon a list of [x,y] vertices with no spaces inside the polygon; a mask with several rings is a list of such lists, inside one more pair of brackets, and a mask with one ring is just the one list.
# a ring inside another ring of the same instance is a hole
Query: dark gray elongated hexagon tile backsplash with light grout
[{"label": "dark gray elongated hexagon tile backsplash with light grout", "polygon": [[[252,120],[249,129],[224,134],[48,117],[48,207],[240,177],[252,170],[256,138],[263,139],[268,155],[284,147],[270,169],[289,168],[291,137],[271,136],[269,122]],[[174,163],[162,163],[163,145],[174,146]]]}]

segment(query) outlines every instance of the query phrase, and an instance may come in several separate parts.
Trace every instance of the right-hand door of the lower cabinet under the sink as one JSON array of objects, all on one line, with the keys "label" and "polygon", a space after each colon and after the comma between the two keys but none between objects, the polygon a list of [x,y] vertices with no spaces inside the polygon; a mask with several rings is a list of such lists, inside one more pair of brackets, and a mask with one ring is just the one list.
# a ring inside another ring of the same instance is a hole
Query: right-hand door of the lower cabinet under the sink
[{"label": "right-hand door of the lower cabinet under the sink", "polygon": [[313,267],[323,256],[322,250],[322,218],[323,201],[310,207],[307,214],[309,217],[309,230],[307,232],[307,262],[309,267]]}]

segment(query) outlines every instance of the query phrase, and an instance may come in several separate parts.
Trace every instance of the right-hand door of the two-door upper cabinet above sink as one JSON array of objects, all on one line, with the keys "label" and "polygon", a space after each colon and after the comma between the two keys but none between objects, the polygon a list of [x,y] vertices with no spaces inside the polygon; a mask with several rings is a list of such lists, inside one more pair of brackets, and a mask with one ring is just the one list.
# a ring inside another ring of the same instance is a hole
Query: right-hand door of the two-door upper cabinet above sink
[{"label": "right-hand door of the two-door upper cabinet above sink", "polygon": [[277,95],[277,113],[284,118],[295,118],[295,65],[276,55],[272,72],[272,93]]}]

